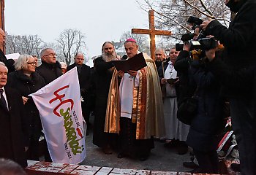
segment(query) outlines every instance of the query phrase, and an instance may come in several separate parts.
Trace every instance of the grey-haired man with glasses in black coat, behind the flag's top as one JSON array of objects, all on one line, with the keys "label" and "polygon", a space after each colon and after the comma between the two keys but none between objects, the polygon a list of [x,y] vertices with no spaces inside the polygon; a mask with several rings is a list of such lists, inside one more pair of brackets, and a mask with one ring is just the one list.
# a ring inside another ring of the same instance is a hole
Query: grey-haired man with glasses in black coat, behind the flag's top
[{"label": "grey-haired man with glasses in black coat, behind the flag's top", "polygon": [[56,53],[53,49],[46,48],[42,50],[40,58],[42,64],[37,68],[37,72],[45,79],[46,84],[62,75],[61,65],[59,61],[56,61]]}]

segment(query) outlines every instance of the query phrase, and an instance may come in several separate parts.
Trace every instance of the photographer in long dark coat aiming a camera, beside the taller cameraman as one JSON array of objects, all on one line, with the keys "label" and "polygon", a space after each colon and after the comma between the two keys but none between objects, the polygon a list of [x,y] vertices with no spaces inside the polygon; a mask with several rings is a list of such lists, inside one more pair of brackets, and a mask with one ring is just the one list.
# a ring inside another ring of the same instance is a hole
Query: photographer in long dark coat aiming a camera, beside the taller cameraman
[{"label": "photographer in long dark coat aiming a camera, beside the taller cameraman", "polygon": [[[207,52],[207,51],[203,51]],[[187,144],[192,147],[199,168],[192,172],[218,174],[217,144],[219,134],[225,126],[223,115],[224,99],[221,96],[221,85],[206,67],[206,57],[193,55],[188,66],[188,85],[197,96],[197,112],[192,119]]]}]

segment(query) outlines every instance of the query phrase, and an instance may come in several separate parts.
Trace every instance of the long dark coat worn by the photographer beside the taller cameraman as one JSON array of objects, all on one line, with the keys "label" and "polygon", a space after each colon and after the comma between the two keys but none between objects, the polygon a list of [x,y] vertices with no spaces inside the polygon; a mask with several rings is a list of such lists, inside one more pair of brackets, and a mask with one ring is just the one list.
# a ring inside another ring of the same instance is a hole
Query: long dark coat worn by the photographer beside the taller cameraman
[{"label": "long dark coat worn by the photographer beside the taller cameraman", "polygon": [[189,79],[198,87],[197,114],[192,120],[187,144],[201,152],[216,150],[219,134],[225,126],[224,100],[221,85],[204,64],[193,61],[189,67]]}]

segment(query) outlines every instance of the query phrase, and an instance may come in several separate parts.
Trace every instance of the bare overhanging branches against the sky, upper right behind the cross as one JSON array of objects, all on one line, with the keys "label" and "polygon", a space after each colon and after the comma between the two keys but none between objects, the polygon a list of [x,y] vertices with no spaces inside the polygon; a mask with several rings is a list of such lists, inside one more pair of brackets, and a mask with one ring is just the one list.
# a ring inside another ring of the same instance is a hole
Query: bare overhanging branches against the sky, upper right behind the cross
[{"label": "bare overhanging branches against the sky, upper right behind the cross", "polygon": [[187,23],[189,16],[217,19],[226,26],[230,20],[230,11],[223,0],[144,0],[138,4],[146,11],[154,10],[156,28],[173,32],[172,36],[162,36],[165,39],[180,39],[182,34],[191,32]]}]

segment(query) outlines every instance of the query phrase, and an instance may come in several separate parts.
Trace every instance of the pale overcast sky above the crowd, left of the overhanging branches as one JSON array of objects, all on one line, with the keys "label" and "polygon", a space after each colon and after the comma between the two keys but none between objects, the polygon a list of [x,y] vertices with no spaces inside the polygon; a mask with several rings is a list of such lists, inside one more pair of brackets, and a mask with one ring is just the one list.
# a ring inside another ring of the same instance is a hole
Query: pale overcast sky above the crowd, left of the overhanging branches
[{"label": "pale overcast sky above the crowd, left of the overhanging branches", "polygon": [[103,42],[118,42],[124,31],[148,28],[148,13],[135,0],[7,0],[4,12],[8,34],[38,34],[54,42],[64,29],[82,31],[89,58],[100,55]]}]

